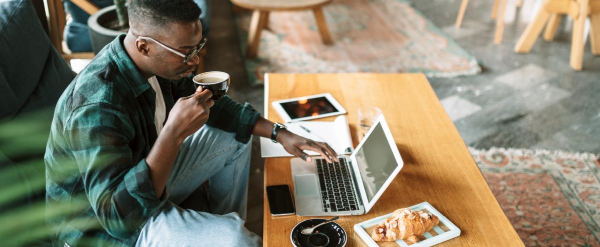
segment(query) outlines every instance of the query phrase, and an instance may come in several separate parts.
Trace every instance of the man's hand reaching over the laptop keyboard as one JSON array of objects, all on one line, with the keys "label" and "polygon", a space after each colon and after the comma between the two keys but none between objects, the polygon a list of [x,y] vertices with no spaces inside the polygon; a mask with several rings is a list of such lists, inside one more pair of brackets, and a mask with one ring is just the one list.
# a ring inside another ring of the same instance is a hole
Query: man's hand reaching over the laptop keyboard
[{"label": "man's hand reaching over the laptop keyboard", "polygon": [[281,143],[287,152],[304,159],[306,162],[311,162],[313,159],[310,158],[310,156],[308,156],[308,154],[303,150],[311,150],[320,153],[328,163],[332,162],[331,159],[334,159],[336,162],[340,161],[338,159],[338,154],[335,153],[334,149],[332,149],[327,143],[313,141],[301,137],[300,135],[296,135],[287,129],[281,129],[281,131],[279,131],[277,134],[277,142]]}]

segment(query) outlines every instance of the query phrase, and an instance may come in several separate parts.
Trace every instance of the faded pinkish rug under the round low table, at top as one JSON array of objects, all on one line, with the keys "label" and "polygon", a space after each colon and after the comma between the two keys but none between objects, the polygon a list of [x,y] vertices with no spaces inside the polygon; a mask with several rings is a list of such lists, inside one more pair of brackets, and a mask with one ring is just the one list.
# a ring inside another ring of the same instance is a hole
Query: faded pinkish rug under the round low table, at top
[{"label": "faded pinkish rug under the round low table, at top", "polygon": [[[464,49],[406,0],[334,0],[323,8],[334,44],[322,43],[312,11],[275,11],[256,59],[251,84],[271,73],[422,72],[428,77],[479,73]],[[250,12],[238,16],[245,53]]]}]

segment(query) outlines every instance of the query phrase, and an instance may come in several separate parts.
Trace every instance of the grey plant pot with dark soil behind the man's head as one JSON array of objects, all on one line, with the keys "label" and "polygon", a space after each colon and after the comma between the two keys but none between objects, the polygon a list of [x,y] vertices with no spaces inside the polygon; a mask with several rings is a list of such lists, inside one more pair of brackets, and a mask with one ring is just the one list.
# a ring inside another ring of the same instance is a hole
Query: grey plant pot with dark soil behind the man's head
[{"label": "grey plant pot with dark soil behind the man's head", "polygon": [[115,5],[102,8],[88,19],[89,37],[92,51],[98,54],[106,44],[115,40],[120,34],[127,34],[129,19],[127,16],[127,0],[113,0]]}]

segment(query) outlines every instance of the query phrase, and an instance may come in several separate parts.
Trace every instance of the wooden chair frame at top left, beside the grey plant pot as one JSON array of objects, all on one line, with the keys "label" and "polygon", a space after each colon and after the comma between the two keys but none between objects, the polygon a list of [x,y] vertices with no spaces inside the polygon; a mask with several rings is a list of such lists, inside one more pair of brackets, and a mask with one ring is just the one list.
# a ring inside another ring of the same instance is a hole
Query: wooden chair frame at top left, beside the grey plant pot
[{"label": "wooden chair frame at top left, beside the grey plant pot", "polygon": [[[96,13],[100,8],[88,0],[71,0],[73,4],[81,8],[86,13],[92,15]],[[92,59],[94,58],[93,52],[71,52],[68,50],[64,40],[62,40],[62,33],[65,31],[67,25],[67,15],[65,14],[64,7],[61,0],[46,0],[49,13],[49,32],[50,41],[52,45],[61,53],[62,57],[68,61],[71,59]]]}]

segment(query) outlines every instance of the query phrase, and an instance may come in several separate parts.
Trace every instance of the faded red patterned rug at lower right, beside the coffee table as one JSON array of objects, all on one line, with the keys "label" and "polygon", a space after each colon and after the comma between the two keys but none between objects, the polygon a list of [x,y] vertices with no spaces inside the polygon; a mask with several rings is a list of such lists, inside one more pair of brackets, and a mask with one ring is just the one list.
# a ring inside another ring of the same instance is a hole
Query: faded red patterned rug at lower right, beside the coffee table
[{"label": "faded red patterned rug at lower right, beside the coffee table", "polygon": [[470,151],[526,246],[600,246],[597,155]]}]

